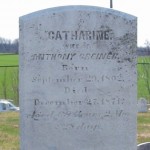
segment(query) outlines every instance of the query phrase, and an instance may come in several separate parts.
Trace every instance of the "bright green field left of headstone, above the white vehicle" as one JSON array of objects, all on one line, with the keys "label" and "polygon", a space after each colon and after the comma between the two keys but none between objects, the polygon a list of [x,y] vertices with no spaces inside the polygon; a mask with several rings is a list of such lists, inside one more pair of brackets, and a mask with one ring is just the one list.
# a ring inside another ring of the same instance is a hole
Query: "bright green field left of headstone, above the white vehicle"
[{"label": "bright green field left of headstone, above the white vehicle", "polygon": [[[18,105],[18,55],[0,55],[0,99],[12,99]],[[3,67],[2,67],[3,66]]]}]

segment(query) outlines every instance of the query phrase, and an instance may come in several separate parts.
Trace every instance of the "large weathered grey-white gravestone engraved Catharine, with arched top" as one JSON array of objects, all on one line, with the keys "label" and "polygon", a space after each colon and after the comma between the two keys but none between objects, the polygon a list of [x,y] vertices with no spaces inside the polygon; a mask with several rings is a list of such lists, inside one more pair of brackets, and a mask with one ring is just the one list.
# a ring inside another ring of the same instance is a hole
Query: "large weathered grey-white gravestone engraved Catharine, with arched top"
[{"label": "large weathered grey-white gravestone engraved Catharine, with arched top", "polygon": [[21,150],[136,150],[136,34],[100,7],[20,17]]}]

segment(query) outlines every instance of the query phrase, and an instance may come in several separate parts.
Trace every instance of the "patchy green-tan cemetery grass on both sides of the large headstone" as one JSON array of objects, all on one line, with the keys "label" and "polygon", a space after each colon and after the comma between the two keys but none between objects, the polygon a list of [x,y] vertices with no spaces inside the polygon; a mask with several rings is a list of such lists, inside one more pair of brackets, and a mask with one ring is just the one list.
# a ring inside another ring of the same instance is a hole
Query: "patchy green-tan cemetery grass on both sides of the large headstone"
[{"label": "patchy green-tan cemetery grass on both sides of the large headstone", "polygon": [[[138,114],[137,142],[150,141],[150,112]],[[0,150],[19,150],[19,113],[0,113]]]}]

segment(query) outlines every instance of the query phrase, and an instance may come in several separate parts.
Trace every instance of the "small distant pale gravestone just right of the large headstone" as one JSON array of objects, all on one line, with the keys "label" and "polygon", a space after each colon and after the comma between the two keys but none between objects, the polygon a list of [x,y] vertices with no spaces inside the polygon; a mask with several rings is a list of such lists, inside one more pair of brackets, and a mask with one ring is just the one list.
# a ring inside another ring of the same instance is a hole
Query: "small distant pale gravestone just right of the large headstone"
[{"label": "small distant pale gravestone just right of the large headstone", "polygon": [[147,100],[145,98],[140,98],[138,100],[138,112],[145,113],[148,111]]}]

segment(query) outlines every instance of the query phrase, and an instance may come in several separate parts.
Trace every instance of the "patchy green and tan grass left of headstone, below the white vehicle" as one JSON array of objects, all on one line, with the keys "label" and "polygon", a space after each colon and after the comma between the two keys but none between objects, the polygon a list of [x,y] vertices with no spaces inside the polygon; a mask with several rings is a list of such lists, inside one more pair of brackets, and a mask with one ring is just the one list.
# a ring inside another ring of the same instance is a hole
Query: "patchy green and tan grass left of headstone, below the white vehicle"
[{"label": "patchy green and tan grass left of headstone, below the white vehicle", "polygon": [[0,150],[19,150],[19,113],[0,113]]}]

